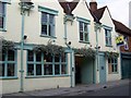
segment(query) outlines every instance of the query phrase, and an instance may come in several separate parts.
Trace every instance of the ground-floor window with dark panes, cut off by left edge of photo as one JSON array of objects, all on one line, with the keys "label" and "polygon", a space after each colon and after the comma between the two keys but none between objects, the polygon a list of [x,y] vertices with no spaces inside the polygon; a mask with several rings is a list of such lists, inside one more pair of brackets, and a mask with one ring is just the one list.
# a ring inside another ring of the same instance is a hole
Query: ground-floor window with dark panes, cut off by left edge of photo
[{"label": "ground-floor window with dark panes, cut off by left edge of photo", "polygon": [[2,51],[2,59],[0,59],[0,77],[14,76],[16,76],[15,51]]}]

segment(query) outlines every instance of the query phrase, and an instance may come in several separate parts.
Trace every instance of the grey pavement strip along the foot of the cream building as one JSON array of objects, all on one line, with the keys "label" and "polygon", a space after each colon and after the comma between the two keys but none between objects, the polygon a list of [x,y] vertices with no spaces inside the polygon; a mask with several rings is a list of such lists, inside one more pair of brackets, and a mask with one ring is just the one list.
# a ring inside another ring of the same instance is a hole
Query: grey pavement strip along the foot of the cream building
[{"label": "grey pavement strip along the foot of the cream building", "polygon": [[55,88],[55,89],[7,94],[3,96],[75,96],[78,94],[91,93],[91,91],[95,91],[99,89],[124,85],[124,84],[129,84],[129,79],[108,82],[106,84],[78,85],[73,88],[70,88],[70,87],[69,88]]}]

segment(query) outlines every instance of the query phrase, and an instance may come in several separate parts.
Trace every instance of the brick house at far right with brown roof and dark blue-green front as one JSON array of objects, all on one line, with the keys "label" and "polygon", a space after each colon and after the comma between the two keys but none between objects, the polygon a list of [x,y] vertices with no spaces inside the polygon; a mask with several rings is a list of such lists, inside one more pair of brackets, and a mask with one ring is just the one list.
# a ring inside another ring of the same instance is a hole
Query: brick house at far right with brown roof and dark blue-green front
[{"label": "brick house at far right with brown roof and dark blue-green front", "polygon": [[131,2],[129,2],[129,27],[118,21],[114,21],[116,32],[123,35],[124,44],[120,46],[121,78],[131,77]]}]

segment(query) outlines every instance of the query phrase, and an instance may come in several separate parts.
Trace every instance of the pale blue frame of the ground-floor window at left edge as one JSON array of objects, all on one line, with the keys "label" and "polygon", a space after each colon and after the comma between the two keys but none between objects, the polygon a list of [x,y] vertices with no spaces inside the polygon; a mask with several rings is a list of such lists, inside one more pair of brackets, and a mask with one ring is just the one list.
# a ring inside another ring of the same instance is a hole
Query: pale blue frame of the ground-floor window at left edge
[{"label": "pale blue frame of the ground-floor window at left edge", "polygon": [[[9,51],[4,52],[4,61],[0,61],[0,64],[4,64],[4,76],[0,76],[0,78],[17,78],[17,51],[14,51],[14,61],[9,61],[8,60],[8,56],[9,56]],[[3,54],[3,52],[2,52]],[[14,64],[14,76],[8,76],[8,64]]]}]

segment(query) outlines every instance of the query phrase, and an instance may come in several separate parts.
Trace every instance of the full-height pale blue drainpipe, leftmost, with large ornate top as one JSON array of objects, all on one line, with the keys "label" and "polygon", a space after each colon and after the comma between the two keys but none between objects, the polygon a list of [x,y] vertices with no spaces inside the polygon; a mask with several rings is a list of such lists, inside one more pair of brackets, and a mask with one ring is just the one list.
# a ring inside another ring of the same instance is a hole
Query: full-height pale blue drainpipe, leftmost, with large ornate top
[{"label": "full-height pale blue drainpipe, leftmost, with large ornate top", "polygon": [[31,2],[31,0],[20,0],[21,2],[19,3],[21,7],[21,15],[22,15],[22,32],[21,32],[21,78],[20,78],[20,93],[24,91],[24,87],[23,87],[23,82],[24,82],[24,69],[23,69],[23,49],[24,49],[24,21],[25,21],[25,14],[26,12],[29,15],[29,11],[31,9],[34,8],[34,3]]}]

